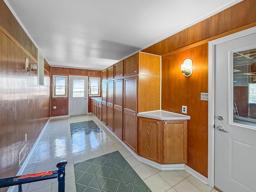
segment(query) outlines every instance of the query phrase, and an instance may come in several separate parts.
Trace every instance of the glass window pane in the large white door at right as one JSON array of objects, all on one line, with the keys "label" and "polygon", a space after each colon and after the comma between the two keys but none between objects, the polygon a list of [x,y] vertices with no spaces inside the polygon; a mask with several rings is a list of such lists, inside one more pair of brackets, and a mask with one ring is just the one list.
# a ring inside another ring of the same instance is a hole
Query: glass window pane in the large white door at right
[{"label": "glass window pane in the large white door at right", "polygon": [[233,122],[256,126],[256,48],[233,53]]}]

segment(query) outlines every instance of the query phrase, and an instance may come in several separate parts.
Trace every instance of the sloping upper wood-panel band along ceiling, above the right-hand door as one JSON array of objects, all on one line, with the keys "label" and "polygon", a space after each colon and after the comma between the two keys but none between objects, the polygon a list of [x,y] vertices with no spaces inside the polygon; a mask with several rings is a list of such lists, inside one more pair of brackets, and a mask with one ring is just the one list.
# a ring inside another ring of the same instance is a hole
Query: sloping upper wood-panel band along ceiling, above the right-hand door
[{"label": "sloping upper wood-panel band along ceiling, above the right-hand door", "polygon": [[208,38],[214,40],[256,26],[255,10],[256,0],[244,0],[142,50],[142,52],[163,55]]}]

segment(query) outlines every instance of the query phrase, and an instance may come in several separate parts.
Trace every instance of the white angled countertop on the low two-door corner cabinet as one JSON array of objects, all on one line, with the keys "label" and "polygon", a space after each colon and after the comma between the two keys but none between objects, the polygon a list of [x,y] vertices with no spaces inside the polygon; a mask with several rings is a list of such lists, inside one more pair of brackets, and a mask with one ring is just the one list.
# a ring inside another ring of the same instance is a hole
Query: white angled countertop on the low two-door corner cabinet
[{"label": "white angled countertop on the low two-door corner cabinet", "polygon": [[178,113],[168,112],[164,110],[141,112],[137,114],[138,117],[145,117],[158,120],[189,120],[190,116]]}]

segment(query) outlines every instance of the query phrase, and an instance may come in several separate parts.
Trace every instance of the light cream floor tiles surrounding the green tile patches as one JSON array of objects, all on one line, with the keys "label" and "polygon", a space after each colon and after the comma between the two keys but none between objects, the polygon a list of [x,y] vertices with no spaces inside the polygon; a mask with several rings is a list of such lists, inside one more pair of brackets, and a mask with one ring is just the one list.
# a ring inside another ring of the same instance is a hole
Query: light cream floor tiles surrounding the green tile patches
[{"label": "light cream floor tiles surrounding the green tile patches", "polygon": [[[102,132],[85,136],[74,144],[70,123],[93,120]],[[45,128],[22,174],[56,170],[60,160],[67,160],[65,191],[76,192],[74,164],[119,151],[152,192],[215,192],[185,170],[161,171],[138,161],[124,145],[93,115],[51,120]],[[22,185],[23,192],[58,191],[57,179]],[[17,188],[15,191],[18,191]]]}]

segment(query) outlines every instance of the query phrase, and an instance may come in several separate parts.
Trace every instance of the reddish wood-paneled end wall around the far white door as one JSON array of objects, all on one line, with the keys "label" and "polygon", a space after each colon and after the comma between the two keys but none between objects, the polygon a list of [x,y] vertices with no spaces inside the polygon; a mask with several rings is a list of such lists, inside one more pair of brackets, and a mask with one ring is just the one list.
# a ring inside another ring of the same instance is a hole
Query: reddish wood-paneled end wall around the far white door
[{"label": "reddish wood-paneled end wall around the far white door", "polygon": [[[62,68],[51,67],[52,75],[77,75],[88,77],[101,77],[101,71],[99,70],[86,70],[86,69],[74,69],[74,68]],[[57,106],[53,109],[53,106]],[[88,112],[91,112],[91,98],[88,97]],[[68,97],[52,98],[51,95],[51,116],[63,116],[68,115]]]}]

